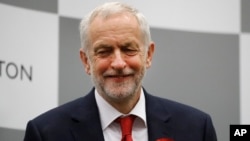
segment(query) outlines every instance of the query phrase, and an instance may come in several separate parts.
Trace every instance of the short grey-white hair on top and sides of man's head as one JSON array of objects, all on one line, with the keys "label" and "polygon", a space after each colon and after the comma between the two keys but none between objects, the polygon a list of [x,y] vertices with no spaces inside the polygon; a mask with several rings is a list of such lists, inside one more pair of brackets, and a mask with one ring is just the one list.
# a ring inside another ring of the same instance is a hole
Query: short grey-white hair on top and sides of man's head
[{"label": "short grey-white hair on top and sides of man's head", "polygon": [[89,27],[96,17],[102,17],[106,19],[114,14],[126,12],[135,16],[135,18],[137,19],[142,35],[142,42],[147,49],[149,43],[151,42],[151,35],[148,22],[146,21],[144,15],[137,9],[127,4],[120,2],[108,2],[99,7],[96,7],[86,17],[84,17],[80,23],[81,46],[85,50],[85,52],[88,52],[88,48],[90,46],[90,38],[88,35]]}]

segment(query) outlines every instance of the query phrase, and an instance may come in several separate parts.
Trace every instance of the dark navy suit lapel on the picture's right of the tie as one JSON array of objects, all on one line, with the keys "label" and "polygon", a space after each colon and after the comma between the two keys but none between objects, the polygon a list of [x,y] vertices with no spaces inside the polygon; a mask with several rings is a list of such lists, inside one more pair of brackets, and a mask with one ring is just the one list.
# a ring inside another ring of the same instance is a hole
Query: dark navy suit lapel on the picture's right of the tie
[{"label": "dark navy suit lapel on the picture's right of the tie", "polygon": [[149,141],[160,138],[173,138],[172,125],[169,123],[171,115],[163,108],[158,98],[147,94],[146,91],[146,114]]}]

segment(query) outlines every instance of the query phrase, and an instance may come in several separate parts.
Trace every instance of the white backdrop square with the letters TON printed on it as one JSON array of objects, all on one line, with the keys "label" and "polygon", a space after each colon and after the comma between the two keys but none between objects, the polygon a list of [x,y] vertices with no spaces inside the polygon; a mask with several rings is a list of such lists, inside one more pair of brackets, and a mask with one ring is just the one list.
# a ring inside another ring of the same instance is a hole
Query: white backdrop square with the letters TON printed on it
[{"label": "white backdrop square with the letters TON printed on it", "polygon": [[25,129],[58,105],[58,17],[2,4],[0,13],[0,127]]}]

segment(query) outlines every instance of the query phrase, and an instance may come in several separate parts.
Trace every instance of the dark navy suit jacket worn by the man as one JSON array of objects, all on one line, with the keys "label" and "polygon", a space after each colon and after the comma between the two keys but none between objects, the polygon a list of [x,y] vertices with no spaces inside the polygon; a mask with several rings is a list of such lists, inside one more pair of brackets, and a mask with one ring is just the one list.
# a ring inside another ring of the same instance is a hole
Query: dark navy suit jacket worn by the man
[{"label": "dark navy suit jacket worn by the man", "polygon": [[[216,141],[209,115],[145,90],[149,141]],[[104,141],[94,89],[29,121],[24,141]],[[167,141],[167,140],[166,140]]]}]

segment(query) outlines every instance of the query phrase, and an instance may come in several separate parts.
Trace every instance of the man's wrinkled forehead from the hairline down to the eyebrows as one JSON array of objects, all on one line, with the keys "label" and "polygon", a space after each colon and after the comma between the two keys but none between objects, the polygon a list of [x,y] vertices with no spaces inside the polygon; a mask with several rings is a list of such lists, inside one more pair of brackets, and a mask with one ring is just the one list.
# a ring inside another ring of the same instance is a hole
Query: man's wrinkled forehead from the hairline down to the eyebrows
[{"label": "man's wrinkled forehead from the hairline down to the eyebrows", "polygon": [[109,17],[97,16],[89,28],[90,48],[103,44],[143,45],[137,19],[130,13],[119,13]]}]

